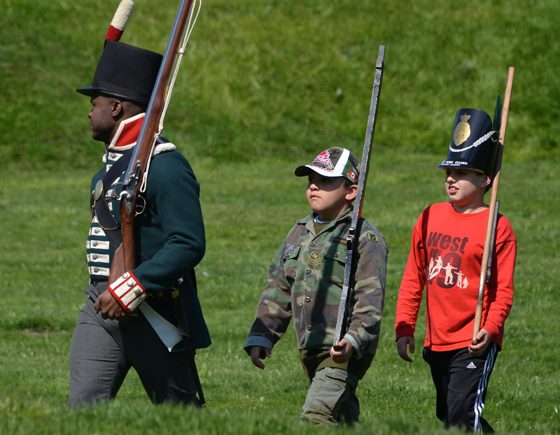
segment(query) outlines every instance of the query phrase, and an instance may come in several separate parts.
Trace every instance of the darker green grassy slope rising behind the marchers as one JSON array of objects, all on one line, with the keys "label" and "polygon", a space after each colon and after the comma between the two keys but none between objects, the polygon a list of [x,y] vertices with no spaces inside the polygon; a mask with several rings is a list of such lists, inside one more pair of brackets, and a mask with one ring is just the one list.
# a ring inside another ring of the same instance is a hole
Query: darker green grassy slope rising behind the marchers
[{"label": "darker green grassy slope rising behind the marchers", "polygon": [[[0,0],[0,167],[93,169],[74,89],[91,82],[116,3]],[[174,4],[137,0],[123,40],[163,51]],[[440,150],[459,108],[493,113],[514,65],[511,155],[558,155],[558,16],[555,0],[205,0],[166,129],[219,161],[358,147],[384,44],[379,143]]]}]

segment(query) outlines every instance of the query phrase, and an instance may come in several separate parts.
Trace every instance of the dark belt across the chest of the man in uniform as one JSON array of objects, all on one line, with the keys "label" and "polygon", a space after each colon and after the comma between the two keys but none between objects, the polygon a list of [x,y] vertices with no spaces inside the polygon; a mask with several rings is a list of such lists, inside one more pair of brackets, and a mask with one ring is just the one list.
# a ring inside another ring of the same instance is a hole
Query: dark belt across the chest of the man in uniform
[{"label": "dark belt across the chest of the man in uniform", "polygon": [[127,150],[121,158],[111,166],[111,169],[97,182],[91,195],[91,208],[113,248],[117,248],[121,244],[122,235],[120,225],[109,209],[109,205],[105,199],[105,193],[109,190],[113,181],[128,167],[128,163],[132,157],[132,151],[133,148]]}]

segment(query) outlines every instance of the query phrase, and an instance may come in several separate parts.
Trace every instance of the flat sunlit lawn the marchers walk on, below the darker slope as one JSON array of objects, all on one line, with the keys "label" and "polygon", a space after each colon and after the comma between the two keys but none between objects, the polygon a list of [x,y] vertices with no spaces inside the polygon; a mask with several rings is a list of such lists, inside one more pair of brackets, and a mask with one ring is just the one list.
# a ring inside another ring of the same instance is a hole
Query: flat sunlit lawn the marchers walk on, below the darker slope
[{"label": "flat sunlit lawn the marchers walk on, below the darker slope", "polygon": [[[308,156],[310,157],[310,156]],[[434,433],[434,392],[420,352],[411,365],[394,349],[396,293],[410,230],[421,209],[444,199],[439,155],[376,149],[364,214],[386,235],[388,289],[378,355],[358,394],[361,426],[349,433]],[[251,164],[193,159],[202,186],[208,251],[198,267],[213,346],[198,356],[208,409],[153,407],[131,373],[115,401],[69,411],[68,347],[84,301],[88,227],[85,170],[0,175],[0,431],[2,433],[319,433],[298,416],[307,381],[293,331],[267,367],[242,350],[266,269],[292,223],[307,213],[298,159]],[[555,282],[556,206],[542,192],[560,188],[559,161],[507,162],[501,209],[518,239],[516,299],[485,415],[500,432],[560,431],[553,342],[560,328]],[[423,320],[419,320],[420,348]],[[321,432],[325,432],[321,429]],[[327,433],[329,431],[326,431]],[[339,431],[336,431],[338,433]],[[334,432],[333,432],[334,433]],[[443,433],[443,432],[442,432]]]}]

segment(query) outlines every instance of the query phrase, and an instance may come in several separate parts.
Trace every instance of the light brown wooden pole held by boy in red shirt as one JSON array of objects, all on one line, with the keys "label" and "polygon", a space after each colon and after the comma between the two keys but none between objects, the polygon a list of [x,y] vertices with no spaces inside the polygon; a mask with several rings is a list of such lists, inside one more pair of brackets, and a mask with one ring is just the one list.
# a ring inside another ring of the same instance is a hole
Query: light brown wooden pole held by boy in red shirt
[{"label": "light brown wooden pole held by boy in red shirt", "polygon": [[480,323],[482,320],[482,307],[484,305],[484,287],[490,282],[492,252],[494,251],[496,225],[498,223],[498,187],[500,183],[500,172],[502,169],[502,154],[506,139],[507,120],[509,115],[509,102],[511,100],[511,88],[513,86],[513,76],[515,69],[510,66],[508,69],[508,78],[506,82],[506,90],[504,93],[504,105],[502,107],[502,115],[500,117],[500,132],[498,135],[498,152],[496,154],[496,174],[492,182],[492,191],[490,196],[490,205],[488,210],[488,223],[486,225],[486,239],[484,240],[484,251],[482,253],[482,264],[480,267],[480,281],[478,284],[478,300],[474,315],[474,327],[472,342],[476,344],[476,335],[480,331]]}]

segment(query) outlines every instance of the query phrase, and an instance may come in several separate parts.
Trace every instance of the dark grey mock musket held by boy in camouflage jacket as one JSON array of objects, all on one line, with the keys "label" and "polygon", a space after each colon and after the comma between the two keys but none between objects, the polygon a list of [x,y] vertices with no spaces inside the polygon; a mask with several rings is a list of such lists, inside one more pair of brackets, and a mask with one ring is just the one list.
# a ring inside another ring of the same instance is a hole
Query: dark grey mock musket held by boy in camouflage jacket
[{"label": "dark grey mock musket held by boy in camouflage jacket", "polygon": [[360,238],[360,219],[362,217],[362,208],[364,205],[364,195],[366,190],[367,176],[369,172],[369,161],[373,148],[373,134],[375,130],[375,117],[377,115],[377,104],[379,101],[379,93],[381,92],[381,81],[383,78],[383,60],[385,57],[385,46],[380,45],[377,52],[377,61],[375,63],[375,79],[373,81],[373,91],[371,94],[371,102],[369,107],[368,123],[366,128],[366,136],[364,140],[364,149],[362,152],[362,161],[360,164],[360,176],[358,178],[358,192],[354,200],[354,210],[352,211],[352,221],[346,237],[346,261],[344,264],[344,281],[342,284],[342,293],[340,295],[340,303],[338,305],[338,315],[336,318],[336,327],[334,331],[333,346],[337,346],[338,342],[343,338],[348,313],[348,304],[350,301],[350,293],[353,283],[353,274],[355,269],[354,252],[358,248]]}]

